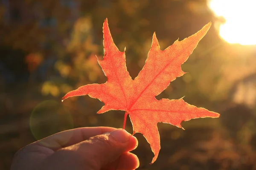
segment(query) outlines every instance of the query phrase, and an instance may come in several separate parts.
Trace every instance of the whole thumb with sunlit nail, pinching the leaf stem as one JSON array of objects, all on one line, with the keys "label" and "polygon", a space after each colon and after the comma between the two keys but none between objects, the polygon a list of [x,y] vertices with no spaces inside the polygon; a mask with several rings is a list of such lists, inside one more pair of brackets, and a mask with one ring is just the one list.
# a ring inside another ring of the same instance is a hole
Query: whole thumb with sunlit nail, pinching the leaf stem
[{"label": "whole thumb with sunlit nail, pinching the leaf stem", "polygon": [[[99,170],[115,161],[125,150],[129,149],[128,147],[134,148],[129,145],[130,140],[134,140],[133,138],[134,136],[123,129],[93,136],[86,141],[56,151],[45,159],[43,166],[47,170],[56,169],[56,167]],[[57,159],[62,160],[60,164],[56,161]]]}]

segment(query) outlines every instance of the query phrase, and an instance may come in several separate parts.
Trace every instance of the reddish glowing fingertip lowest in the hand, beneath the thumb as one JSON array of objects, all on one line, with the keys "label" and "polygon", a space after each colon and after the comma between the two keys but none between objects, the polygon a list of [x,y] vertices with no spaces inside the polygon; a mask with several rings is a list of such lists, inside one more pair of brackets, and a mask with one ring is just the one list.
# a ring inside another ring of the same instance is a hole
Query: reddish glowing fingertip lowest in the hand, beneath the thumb
[{"label": "reddish glowing fingertip lowest in the hand, beneath the thumb", "polygon": [[139,165],[140,162],[136,155],[125,152],[118,159],[103,167],[102,170],[134,170]]}]

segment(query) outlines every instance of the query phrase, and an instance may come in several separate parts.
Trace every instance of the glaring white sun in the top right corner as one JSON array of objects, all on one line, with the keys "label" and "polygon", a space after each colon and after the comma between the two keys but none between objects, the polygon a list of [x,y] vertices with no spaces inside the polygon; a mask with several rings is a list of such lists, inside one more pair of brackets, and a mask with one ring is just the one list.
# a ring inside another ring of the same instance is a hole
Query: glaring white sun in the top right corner
[{"label": "glaring white sun in the top right corner", "polygon": [[217,17],[224,17],[220,36],[229,43],[256,44],[255,0],[209,0],[209,8]]}]

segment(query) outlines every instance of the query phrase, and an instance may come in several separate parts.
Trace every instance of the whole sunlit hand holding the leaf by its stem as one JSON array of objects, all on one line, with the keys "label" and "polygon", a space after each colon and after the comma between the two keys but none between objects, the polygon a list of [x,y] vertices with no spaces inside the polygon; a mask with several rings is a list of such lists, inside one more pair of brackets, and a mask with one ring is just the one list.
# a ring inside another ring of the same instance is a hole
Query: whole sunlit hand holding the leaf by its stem
[{"label": "whole sunlit hand holding the leaf by its stem", "polygon": [[133,170],[139,159],[129,151],[137,145],[137,139],[123,129],[81,127],[23,147],[11,170]]}]

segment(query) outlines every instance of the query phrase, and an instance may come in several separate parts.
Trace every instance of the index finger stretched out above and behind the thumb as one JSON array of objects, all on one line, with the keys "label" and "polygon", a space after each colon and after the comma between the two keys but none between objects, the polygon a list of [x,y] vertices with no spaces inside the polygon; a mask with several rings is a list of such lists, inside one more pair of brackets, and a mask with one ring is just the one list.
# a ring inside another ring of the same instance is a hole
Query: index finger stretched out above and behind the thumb
[{"label": "index finger stretched out above and behind the thumb", "polygon": [[97,136],[102,133],[111,132],[116,130],[114,127],[81,127],[71,130],[65,130],[63,132],[55,133],[44,139],[41,139],[33,144],[43,145],[54,151],[63,147],[68,147],[73,144],[77,144],[84,140],[89,139],[92,136]]}]

